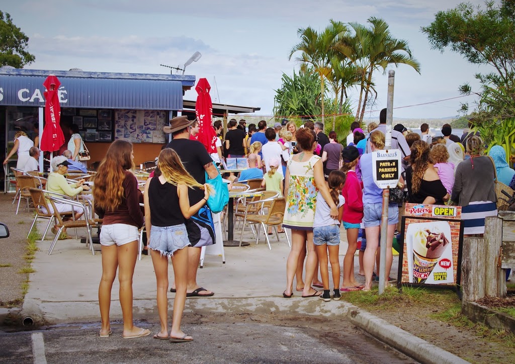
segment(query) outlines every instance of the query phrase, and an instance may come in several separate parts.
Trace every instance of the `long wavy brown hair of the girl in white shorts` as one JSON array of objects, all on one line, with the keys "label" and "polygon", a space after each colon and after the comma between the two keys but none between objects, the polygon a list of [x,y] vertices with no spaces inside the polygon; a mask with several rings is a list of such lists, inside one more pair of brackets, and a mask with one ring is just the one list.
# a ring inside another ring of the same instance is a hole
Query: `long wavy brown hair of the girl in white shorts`
[{"label": "long wavy brown hair of the girl in white shorts", "polygon": [[125,171],[134,169],[132,161],[132,143],[119,139],[107,150],[106,157],[98,166],[93,178],[93,197],[95,204],[105,211],[114,211],[122,203]]}]

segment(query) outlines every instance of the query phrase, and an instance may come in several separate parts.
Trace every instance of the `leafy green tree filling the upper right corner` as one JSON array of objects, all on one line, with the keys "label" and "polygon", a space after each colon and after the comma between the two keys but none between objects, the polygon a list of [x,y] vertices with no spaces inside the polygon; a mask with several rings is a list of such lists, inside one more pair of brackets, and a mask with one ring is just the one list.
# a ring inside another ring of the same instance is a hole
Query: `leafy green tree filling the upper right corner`
[{"label": "leafy green tree filling the upper right corner", "polygon": [[[515,114],[515,2],[501,0],[486,2],[477,8],[469,3],[454,9],[439,11],[435,20],[421,30],[433,49],[450,48],[472,64],[489,66],[491,72],[477,73],[481,84],[478,92],[476,122],[491,124],[497,118]],[[471,92],[465,83],[459,90]],[[467,111],[463,105],[462,111]],[[490,126],[485,130],[492,130]]]}]

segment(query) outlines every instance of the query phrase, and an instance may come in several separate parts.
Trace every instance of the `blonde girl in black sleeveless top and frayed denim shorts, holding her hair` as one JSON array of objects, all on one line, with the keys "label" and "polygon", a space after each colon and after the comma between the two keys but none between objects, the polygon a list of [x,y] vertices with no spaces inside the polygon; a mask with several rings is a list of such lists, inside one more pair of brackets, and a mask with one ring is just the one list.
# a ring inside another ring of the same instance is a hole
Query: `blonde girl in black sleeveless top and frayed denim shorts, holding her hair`
[{"label": "blonde girl in black sleeveless top and frayed denim shorts, holding her hair", "polygon": [[[190,240],[184,220],[192,217],[207,203],[209,185],[199,184],[184,168],[177,152],[165,148],[159,153],[159,177],[149,178],[145,186],[145,229],[152,264],[156,272],[157,303],[161,330],[155,339],[171,342],[192,341],[181,331],[181,319],[186,302],[188,251]],[[204,190],[204,198],[190,206],[188,188]],[[168,334],[168,258],[174,266],[176,294],[171,331]]]}]

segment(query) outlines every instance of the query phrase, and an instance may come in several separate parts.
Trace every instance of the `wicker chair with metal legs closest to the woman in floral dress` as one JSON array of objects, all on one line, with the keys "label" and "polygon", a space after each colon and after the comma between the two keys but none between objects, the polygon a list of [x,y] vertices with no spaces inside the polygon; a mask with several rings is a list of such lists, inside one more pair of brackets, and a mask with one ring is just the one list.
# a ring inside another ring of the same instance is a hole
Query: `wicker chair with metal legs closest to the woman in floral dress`
[{"label": "wicker chair with metal legs closest to the woman in floral dress", "polygon": [[[260,203],[263,206],[265,204],[265,202],[267,202],[267,201],[269,201],[269,200],[260,200],[260,201],[257,201],[256,203]],[[277,241],[280,241],[279,234],[277,232],[277,226],[279,226],[280,224],[283,223],[285,207],[286,207],[286,200],[284,199],[284,197],[276,197],[272,200],[271,206],[268,208],[268,211],[266,214],[262,214],[262,215],[245,214],[244,221],[243,221],[244,227],[247,222],[250,224],[252,224],[252,223],[258,224],[258,233],[256,234],[256,244],[258,244],[258,241],[259,241],[260,226],[263,226],[265,237],[266,237],[266,242],[268,243],[268,248],[270,250],[272,249],[272,247],[270,246],[270,240],[268,239],[268,234],[267,234],[267,228],[269,226],[274,227],[274,229],[276,230]],[[242,234],[239,237],[239,246],[242,246],[243,231],[244,231],[244,229],[242,229]],[[286,240],[288,241],[288,246],[291,247],[288,234],[285,234],[285,235],[286,235]]]}]

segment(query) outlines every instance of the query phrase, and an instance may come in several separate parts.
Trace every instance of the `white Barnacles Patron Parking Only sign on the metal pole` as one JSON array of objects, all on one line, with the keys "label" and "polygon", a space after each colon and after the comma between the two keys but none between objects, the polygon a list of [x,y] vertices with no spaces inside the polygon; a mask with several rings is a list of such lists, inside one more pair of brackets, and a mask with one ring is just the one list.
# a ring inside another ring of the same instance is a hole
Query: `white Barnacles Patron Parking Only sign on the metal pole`
[{"label": "white Barnacles Patron Parking Only sign on the metal pole", "polygon": [[376,150],[372,152],[372,174],[379,188],[393,188],[401,175],[401,150]]}]

